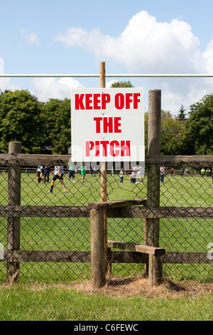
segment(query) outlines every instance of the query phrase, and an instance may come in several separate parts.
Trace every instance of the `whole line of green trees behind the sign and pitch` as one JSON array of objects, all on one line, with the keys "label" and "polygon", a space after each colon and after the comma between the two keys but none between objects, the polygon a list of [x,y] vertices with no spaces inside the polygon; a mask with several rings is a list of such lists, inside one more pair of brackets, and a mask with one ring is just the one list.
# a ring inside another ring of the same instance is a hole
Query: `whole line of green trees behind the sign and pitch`
[{"label": "whole line of green trees behind the sign and pitch", "polygon": [[[113,87],[133,87],[116,82]],[[50,98],[40,103],[28,90],[0,91],[0,152],[10,141],[22,143],[22,153],[67,155],[71,145],[71,100]],[[82,120],[83,124],[83,120]],[[162,155],[213,155],[213,94],[190,106],[181,105],[176,118],[161,113]],[[148,112],[145,114],[147,153]]]}]

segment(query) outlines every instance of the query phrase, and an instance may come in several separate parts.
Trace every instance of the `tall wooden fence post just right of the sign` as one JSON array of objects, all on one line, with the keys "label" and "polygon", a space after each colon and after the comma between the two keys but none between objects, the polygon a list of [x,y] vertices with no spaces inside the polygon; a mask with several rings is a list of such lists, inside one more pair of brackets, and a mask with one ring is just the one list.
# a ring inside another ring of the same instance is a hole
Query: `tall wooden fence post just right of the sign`
[{"label": "tall wooden fence post just right of the sign", "polygon": [[[148,91],[148,155],[160,155],[160,131],[161,131],[161,91]],[[154,209],[160,205],[160,170],[158,166],[148,165],[147,182],[147,207]],[[144,244],[159,247],[159,219],[144,220]],[[150,257],[151,258],[151,257]],[[155,259],[149,262],[146,273],[149,276],[159,271],[151,269],[155,267]],[[147,267],[147,265],[146,265]]]}]

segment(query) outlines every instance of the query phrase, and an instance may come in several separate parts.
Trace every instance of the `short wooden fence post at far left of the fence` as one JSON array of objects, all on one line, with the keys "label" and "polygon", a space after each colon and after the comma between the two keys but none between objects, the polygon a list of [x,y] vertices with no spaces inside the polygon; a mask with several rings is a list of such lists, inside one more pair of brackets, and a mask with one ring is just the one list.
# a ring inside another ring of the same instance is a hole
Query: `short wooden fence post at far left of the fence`
[{"label": "short wooden fence post at far left of the fence", "polygon": [[[21,142],[9,143],[9,154],[21,153]],[[21,205],[21,166],[13,163],[8,171],[8,205]],[[8,217],[7,249],[20,249],[20,217]],[[7,282],[18,282],[20,263],[7,262]]]}]

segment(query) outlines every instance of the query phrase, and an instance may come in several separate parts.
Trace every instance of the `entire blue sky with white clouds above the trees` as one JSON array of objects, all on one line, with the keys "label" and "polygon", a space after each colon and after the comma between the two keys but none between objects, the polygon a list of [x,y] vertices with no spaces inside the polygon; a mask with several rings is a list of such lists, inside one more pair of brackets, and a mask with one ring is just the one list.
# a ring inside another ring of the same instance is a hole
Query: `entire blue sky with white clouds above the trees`
[{"label": "entire blue sky with white clouds above the trees", "polygon": [[[212,0],[0,0],[0,73],[213,73]],[[213,78],[107,78],[162,90],[178,114],[211,94]],[[39,100],[70,98],[99,78],[0,78],[0,89],[28,89]]]}]

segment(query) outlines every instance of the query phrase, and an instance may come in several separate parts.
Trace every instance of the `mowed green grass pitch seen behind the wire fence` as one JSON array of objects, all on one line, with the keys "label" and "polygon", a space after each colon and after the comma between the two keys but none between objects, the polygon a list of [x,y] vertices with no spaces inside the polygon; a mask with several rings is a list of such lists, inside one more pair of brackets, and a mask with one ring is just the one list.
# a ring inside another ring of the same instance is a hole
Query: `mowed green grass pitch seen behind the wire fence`
[{"label": "mowed green grass pitch seen behind the wire fence", "polygon": [[[87,205],[100,201],[100,178],[87,174],[82,185],[76,175],[75,184],[68,183],[67,194],[57,180],[53,194],[47,194],[50,183],[38,184],[34,174],[21,175],[21,205]],[[124,200],[146,197],[144,184],[133,185],[129,175],[123,184],[119,175],[107,176],[108,200]],[[0,204],[7,205],[7,175],[0,175]],[[161,206],[212,207],[212,177],[165,177],[160,185]],[[0,241],[6,246],[6,218],[1,217]],[[27,250],[79,250],[90,249],[90,224],[84,218],[21,218],[21,249]],[[140,219],[108,219],[108,238],[126,242],[143,243],[143,221]],[[212,220],[162,219],[160,220],[160,247],[166,251],[207,252],[213,241]],[[143,265],[113,264],[113,272],[120,277],[143,274]],[[0,281],[5,281],[6,264],[0,264]],[[212,280],[212,266],[208,264],[165,264],[164,275],[178,279]],[[72,282],[90,277],[90,264],[22,263],[21,282]]]}]

